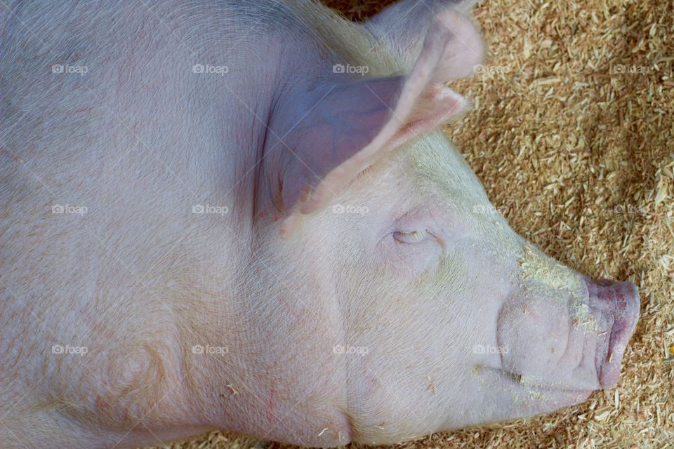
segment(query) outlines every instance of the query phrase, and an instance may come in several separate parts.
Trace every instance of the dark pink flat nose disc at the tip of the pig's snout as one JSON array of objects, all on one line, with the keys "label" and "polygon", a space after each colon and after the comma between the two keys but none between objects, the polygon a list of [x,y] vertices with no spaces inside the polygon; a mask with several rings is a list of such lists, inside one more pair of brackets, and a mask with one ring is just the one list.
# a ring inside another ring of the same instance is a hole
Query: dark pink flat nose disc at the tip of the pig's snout
[{"label": "dark pink flat nose disc at the tip of the pig's snout", "polygon": [[631,282],[585,279],[585,283],[590,307],[600,310],[607,323],[612,323],[604,340],[606,356],[597,360],[600,384],[603,389],[609,389],[618,383],[623,354],[637,326],[639,291]]}]

